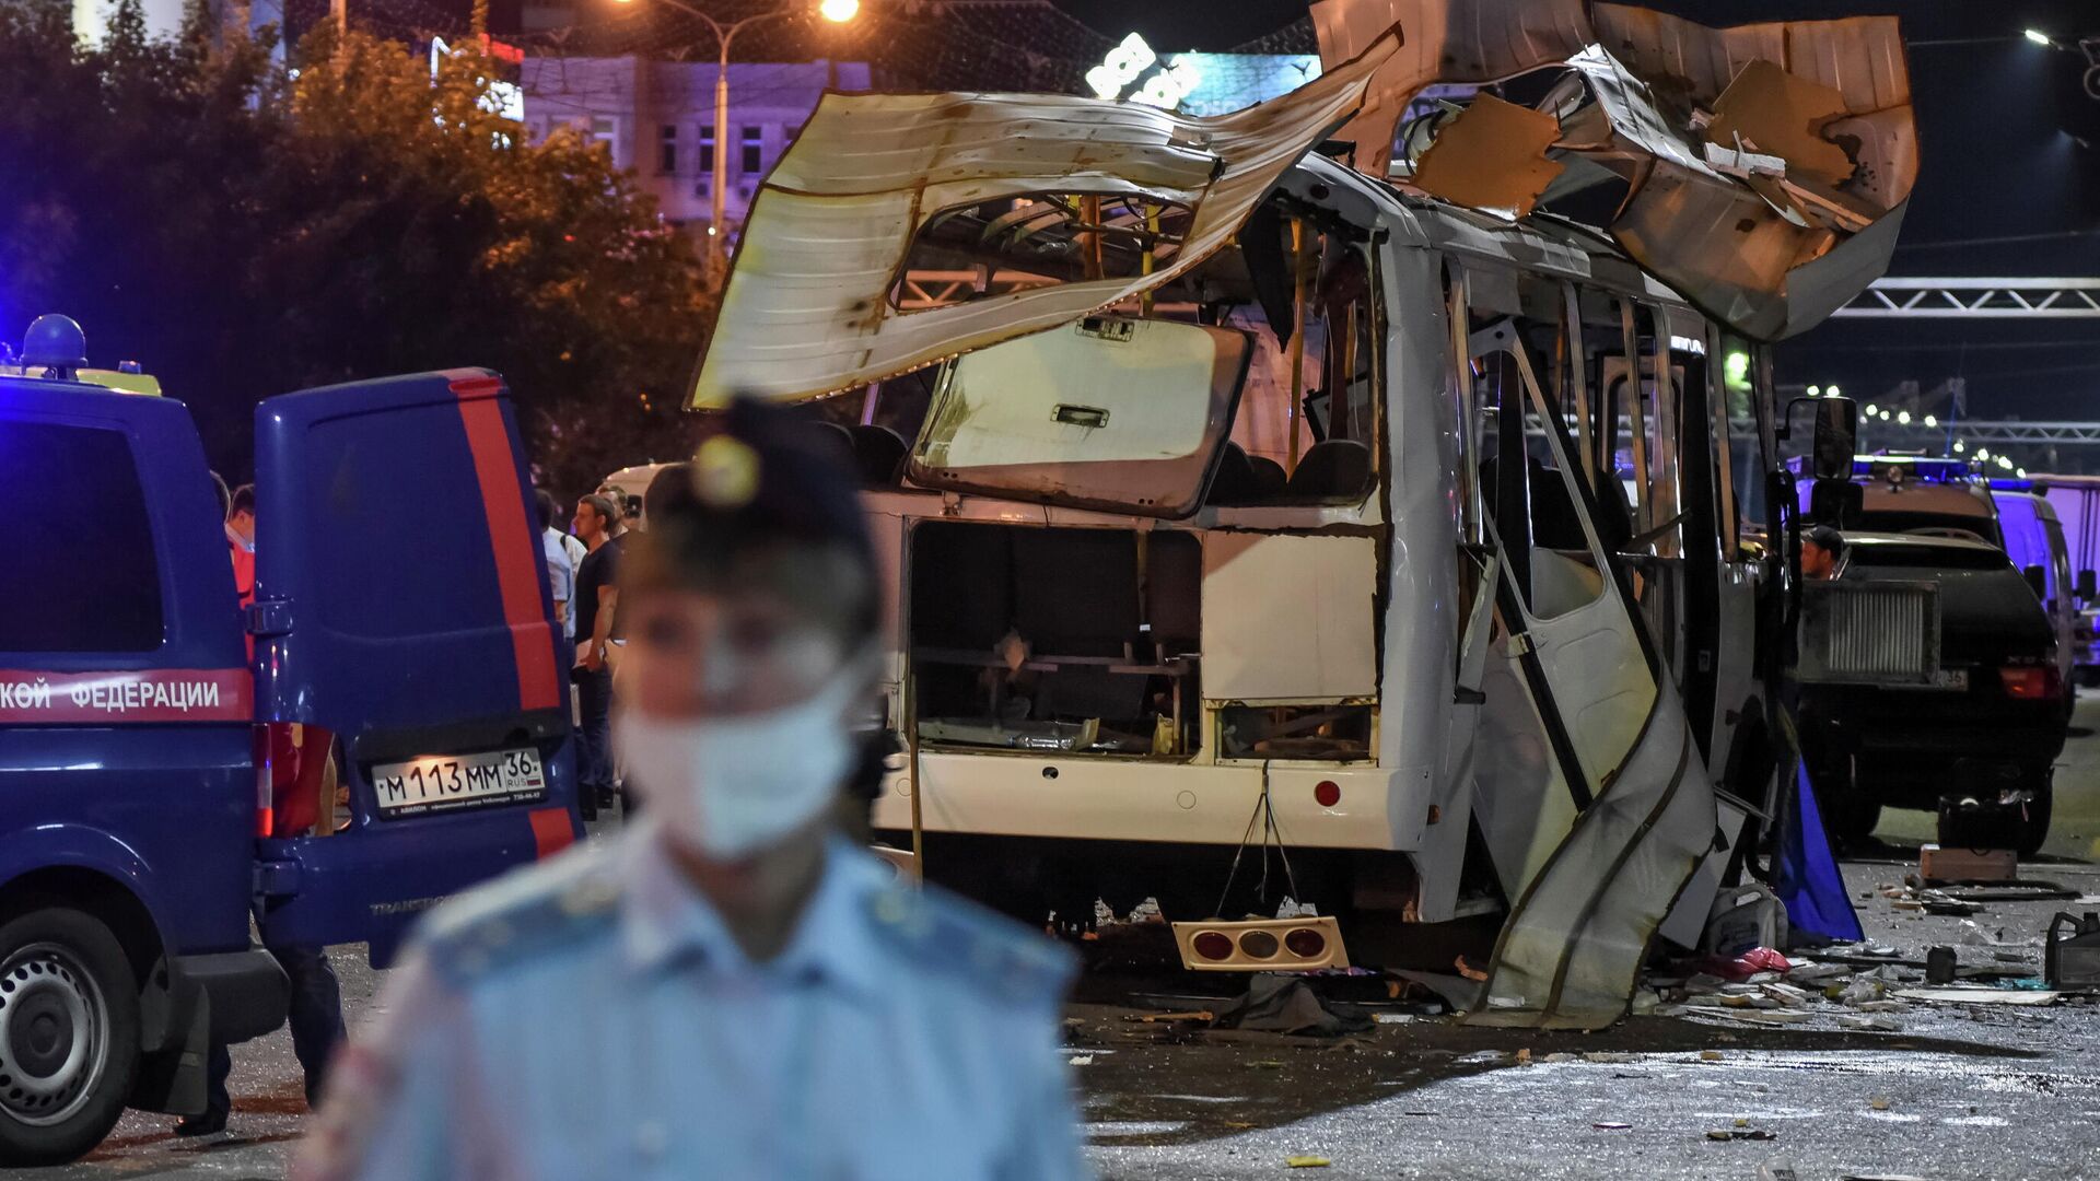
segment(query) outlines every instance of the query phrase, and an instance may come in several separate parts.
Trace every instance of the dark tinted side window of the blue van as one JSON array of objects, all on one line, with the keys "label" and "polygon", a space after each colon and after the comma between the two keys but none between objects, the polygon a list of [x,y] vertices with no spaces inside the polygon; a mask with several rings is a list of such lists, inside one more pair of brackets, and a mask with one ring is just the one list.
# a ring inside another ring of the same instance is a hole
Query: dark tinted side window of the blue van
[{"label": "dark tinted side window of the blue van", "polygon": [[122,431],[0,422],[0,496],[15,506],[0,651],[162,645],[160,561]]}]

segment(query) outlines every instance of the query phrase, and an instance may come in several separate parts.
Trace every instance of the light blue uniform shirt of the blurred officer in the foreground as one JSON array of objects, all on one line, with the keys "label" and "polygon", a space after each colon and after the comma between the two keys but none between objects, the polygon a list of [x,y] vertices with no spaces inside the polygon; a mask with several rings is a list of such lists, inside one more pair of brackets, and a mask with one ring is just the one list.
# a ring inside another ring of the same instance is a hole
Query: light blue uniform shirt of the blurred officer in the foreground
[{"label": "light blue uniform shirt of the blurred officer in the foreground", "polygon": [[430,916],[307,1177],[1084,1177],[1069,954],[834,841],[754,965],[647,824]]}]

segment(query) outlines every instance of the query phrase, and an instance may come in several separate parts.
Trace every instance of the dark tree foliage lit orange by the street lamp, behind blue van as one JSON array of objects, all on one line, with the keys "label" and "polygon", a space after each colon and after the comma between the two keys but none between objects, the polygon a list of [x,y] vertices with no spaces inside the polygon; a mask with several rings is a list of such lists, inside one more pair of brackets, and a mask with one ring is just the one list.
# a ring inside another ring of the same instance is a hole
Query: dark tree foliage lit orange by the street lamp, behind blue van
[{"label": "dark tree foliage lit orange by the street lamp, behind blue van", "polygon": [[355,29],[284,69],[202,15],[155,42],[126,0],[88,48],[67,13],[0,4],[0,336],[67,311],[229,473],[260,397],[456,366],[510,380],[563,492],[680,450],[701,261],[603,147],[491,113],[479,46],[433,82]]}]

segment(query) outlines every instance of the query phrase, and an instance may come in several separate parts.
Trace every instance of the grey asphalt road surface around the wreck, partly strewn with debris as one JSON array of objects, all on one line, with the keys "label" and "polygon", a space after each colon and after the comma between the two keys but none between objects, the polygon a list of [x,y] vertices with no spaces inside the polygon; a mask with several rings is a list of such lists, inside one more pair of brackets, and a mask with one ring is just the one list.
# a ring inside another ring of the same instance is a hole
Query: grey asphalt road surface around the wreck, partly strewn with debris
[{"label": "grey asphalt road surface around the wreck, partly strewn with debris", "polygon": [[[2050,845],[2022,868],[2087,897],[2100,895],[2096,729],[2100,698],[2085,698]],[[1970,920],[1898,910],[1880,891],[1915,868],[1932,817],[1890,811],[1877,836],[1846,864],[1871,939],[2039,969],[2048,914],[2071,904],[1989,904]],[[351,948],[336,969],[355,1036],[376,973]],[[1781,1158],[1804,1181],[2100,1177],[2100,1004],[1907,1004],[1888,1013],[1894,1032],[1844,1028],[1827,1002],[1779,1028],[1632,1017],[1539,1034],[1415,1017],[1342,1040],[1195,1034],[1142,1013],[1073,1007],[1090,1154],[1113,1179],[1749,1179]],[[233,1063],[225,1135],[181,1141],[172,1116],[134,1112],[88,1160],[19,1177],[281,1177],[304,1122],[290,1036],[235,1047]]]}]

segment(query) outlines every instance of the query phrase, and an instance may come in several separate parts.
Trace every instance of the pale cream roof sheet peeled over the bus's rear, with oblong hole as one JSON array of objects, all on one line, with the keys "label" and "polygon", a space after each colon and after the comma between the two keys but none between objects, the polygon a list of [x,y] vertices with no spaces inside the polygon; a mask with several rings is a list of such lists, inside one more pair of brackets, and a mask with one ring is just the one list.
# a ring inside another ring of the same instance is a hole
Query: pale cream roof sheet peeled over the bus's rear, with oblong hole
[{"label": "pale cream roof sheet peeled over the bus's rear, with oblong hole", "polygon": [[[1226,246],[1283,172],[1354,113],[1399,42],[1380,36],[1281,99],[1214,118],[1060,95],[825,95],[752,204],[689,403],[821,397],[1172,282]],[[890,305],[934,214],[1029,193],[1142,193],[1193,221],[1149,275]]]}]

